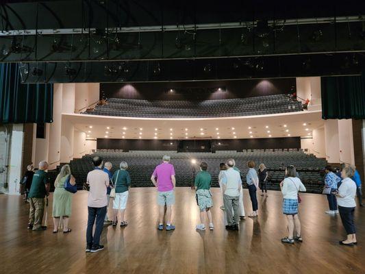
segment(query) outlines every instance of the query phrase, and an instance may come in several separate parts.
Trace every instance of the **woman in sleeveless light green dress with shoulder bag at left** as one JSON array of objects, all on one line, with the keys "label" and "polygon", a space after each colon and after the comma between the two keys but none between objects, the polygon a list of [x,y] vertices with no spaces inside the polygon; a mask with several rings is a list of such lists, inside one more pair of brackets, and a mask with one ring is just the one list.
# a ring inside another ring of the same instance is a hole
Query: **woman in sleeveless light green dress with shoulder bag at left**
[{"label": "woman in sleeveless light green dress with shoulder bag at left", "polygon": [[60,174],[55,178],[55,192],[53,192],[53,233],[58,232],[60,217],[62,216],[64,233],[71,232],[68,227],[68,221],[71,216],[72,193],[64,189],[66,180],[70,177],[70,184],[75,186],[75,177],[71,175],[71,169],[68,164],[62,166]]}]

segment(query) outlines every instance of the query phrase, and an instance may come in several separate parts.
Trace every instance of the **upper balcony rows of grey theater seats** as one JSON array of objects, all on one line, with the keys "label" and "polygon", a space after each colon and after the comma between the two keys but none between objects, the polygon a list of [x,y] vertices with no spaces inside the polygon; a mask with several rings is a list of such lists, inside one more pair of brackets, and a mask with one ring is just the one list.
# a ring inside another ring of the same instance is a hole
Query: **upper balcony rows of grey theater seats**
[{"label": "upper balcony rows of grey theater seats", "polygon": [[301,102],[292,101],[288,95],[206,100],[206,101],[147,101],[110,98],[105,105],[84,114],[149,117],[149,118],[206,118],[251,116],[303,110]]}]

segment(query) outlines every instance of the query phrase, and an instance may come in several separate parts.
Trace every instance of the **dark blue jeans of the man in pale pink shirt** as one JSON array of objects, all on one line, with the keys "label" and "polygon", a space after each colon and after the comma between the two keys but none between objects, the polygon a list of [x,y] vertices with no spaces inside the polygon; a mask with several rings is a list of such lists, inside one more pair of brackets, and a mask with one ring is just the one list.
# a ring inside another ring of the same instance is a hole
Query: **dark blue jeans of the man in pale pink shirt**
[{"label": "dark blue jeans of the man in pale pink shirt", "polygon": [[[88,206],[88,228],[86,229],[86,242],[89,246],[99,245],[100,235],[103,231],[104,218],[106,214],[106,206],[103,208],[90,208]],[[95,224],[94,236],[92,236],[92,227]]]}]

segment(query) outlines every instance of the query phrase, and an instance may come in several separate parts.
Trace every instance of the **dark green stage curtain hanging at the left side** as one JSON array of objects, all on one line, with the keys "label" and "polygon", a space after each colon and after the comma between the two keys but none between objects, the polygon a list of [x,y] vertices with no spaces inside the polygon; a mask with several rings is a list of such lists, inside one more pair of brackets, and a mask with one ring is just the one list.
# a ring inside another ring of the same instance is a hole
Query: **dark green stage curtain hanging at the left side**
[{"label": "dark green stage curtain hanging at the left side", "polygon": [[21,84],[15,63],[0,73],[0,123],[52,123],[53,84]]}]

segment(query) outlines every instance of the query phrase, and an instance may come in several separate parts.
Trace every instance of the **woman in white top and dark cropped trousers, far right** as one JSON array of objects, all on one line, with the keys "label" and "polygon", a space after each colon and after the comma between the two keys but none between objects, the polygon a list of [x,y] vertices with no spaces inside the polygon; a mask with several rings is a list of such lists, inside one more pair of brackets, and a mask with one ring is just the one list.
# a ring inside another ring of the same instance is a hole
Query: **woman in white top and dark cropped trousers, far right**
[{"label": "woman in white top and dark cropped trousers, far right", "polygon": [[353,212],[356,207],[355,195],[357,187],[356,183],[351,179],[354,174],[355,166],[349,165],[342,169],[342,184],[336,193],[338,211],[340,212],[342,225],[347,233],[347,240],[341,240],[340,245],[357,245],[355,223],[353,221]]}]

